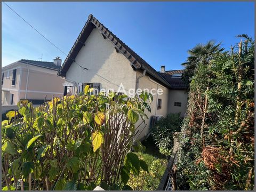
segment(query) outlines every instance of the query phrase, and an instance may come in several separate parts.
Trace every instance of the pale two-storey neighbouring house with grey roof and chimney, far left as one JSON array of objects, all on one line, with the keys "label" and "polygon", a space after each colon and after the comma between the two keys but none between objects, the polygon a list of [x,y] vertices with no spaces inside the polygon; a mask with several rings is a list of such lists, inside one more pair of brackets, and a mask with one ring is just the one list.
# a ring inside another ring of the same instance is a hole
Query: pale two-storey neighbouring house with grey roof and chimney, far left
[{"label": "pale two-storey neighbouring house with grey roof and chimney, far left", "polygon": [[21,59],[2,67],[2,104],[16,105],[21,99],[33,104],[63,97],[65,81],[57,76],[61,59],[53,62]]}]

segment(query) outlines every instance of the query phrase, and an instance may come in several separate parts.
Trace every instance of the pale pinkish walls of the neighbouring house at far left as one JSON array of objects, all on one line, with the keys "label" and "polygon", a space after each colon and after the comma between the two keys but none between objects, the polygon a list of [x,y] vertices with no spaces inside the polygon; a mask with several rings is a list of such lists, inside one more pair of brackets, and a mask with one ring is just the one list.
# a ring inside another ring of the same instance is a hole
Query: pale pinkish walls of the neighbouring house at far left
[{"label": "pale pinkish walls of the neighbouring house at far left", "polygon": [[[62,97],[64,79],[57,76],[56,70],[26,65],[15,62],[7,68],[3,68],[4,81],[2,85],[2,103],[11,104],[11,94],[13,94],[13,104],[17,104],[20,99],[52,99],[52,97]],[[15,85],[12,85],[12,71],[17,69]],[[9,71],[9,78],[6,78]]]}]

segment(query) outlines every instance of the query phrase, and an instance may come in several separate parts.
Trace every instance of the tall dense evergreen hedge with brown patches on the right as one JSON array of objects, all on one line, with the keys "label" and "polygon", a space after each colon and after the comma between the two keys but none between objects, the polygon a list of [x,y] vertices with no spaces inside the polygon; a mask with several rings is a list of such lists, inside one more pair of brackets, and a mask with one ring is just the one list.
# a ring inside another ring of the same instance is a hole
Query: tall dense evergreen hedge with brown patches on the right
[{"label": "tall dense evergreen hedge with brown patches on the right", "polygon": [[254,189],[254,41],[239,37],[230,51],[196,63],[178,156],[179,189]]}]

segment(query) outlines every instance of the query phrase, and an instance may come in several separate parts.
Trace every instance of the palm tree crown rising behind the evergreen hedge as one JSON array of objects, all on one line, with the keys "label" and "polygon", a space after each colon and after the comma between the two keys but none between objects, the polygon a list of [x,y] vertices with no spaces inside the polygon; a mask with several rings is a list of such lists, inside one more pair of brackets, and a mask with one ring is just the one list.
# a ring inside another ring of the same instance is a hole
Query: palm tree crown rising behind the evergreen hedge
[{"label": "palm tree crown rising behind the evergreen hedge", "polygon": [[224,49],[220,47],[220,44],[221,43],[215,45],[214,41],[209,41],[205,45],[197,44],[193,49],[188,50],[189,57],[186,62],[181,64],[185,66],[183,80],[190,83],[190,78],[193,77],[199,62],[203,62],[207,65],[214,53],[223,51]]}]

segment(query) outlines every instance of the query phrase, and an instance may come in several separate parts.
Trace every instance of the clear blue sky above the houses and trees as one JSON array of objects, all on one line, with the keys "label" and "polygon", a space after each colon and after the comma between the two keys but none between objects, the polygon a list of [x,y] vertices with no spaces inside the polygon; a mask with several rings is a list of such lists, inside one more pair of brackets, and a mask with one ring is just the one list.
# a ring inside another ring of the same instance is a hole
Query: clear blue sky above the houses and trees
[{"label": "clear blue sky above the houses and trees", "polygon": [[[254,37],[253,2],[7,2],[65,53],[92,13],[156,70],[182,69],[187,51],[213,39],[229,50]],[[2,3],[2,66],[66,58]]]}]

